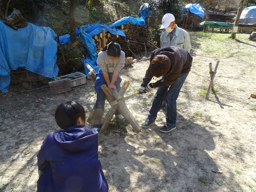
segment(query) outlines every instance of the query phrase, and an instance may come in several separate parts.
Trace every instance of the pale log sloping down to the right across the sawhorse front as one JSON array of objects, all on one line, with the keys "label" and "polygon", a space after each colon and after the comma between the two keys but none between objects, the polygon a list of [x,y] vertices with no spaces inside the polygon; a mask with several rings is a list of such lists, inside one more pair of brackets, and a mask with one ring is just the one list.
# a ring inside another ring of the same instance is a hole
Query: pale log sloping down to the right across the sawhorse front
[{"label": "pale log sloping down to the right across the sawhorse front", "polygon": [[[113,94],[113,96],[117,99],[120,97],[120,95],[112,90],[111,92]],[[132,126],[132,130],[136,133],[139,133],[141,131],[141,126],[138,124],[138,122],[136,121],[136,119],[132,116],[132,113],[130,112],[130,110],[128,109],[128,107],[125,105],[124,101],[119,100],[117,102],[117,109],[119,109],[119,111],[121,112],[122,116],[129,121],[129,123]]]}]

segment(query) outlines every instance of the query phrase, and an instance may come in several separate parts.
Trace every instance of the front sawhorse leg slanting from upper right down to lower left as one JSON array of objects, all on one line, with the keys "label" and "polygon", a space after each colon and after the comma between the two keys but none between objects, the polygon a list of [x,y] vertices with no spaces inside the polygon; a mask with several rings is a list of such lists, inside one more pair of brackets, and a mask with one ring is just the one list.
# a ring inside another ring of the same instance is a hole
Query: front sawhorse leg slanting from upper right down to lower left
[{"label": "front sawhorse leg slanting from upper right down to lower left", "polygon": [[[130,84],[129,81],[124,81],[124,83],[119,91],[119,94],[121,96],[124,96],[124,93],[126,92],[129,84]],[[118,107],[117,105],[112,106],[111,109],[108,111],[107,115],[105,116],[104,122],[101,126],[100,133],[105,132],[107,130],[108,125],[110,124],[112,117],[114,116],[114,114],[116,112],[117,107]]]}]

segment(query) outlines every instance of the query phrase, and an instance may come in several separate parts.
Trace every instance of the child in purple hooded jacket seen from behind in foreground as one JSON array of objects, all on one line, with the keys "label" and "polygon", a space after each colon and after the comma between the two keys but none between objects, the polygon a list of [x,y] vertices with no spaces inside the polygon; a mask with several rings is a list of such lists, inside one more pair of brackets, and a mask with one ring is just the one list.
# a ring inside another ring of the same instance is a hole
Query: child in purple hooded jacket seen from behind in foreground
[{"label": "child in purple hooded jacket seen from behind in foreground", "polygon": [[61,103],[55,120],[62,129],[45,138],[37,165],[37,192],[107,192],[98,156],[98,132],[85,125],[83,106],[75,101]]}]

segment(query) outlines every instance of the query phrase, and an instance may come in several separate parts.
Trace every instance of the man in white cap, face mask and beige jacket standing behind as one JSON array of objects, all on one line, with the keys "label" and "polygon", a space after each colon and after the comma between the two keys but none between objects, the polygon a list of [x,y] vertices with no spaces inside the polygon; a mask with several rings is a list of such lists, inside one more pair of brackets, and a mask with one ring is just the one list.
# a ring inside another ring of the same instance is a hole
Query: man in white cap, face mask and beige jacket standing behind
[{"label": "man in white cap, face mask and beige jacket standing behind", "polygon": [[191,44],[188,32],[175,24],[175,18],[171,13],[164,15],[160,29],[165,29],[160,37],[161,47],[181,47],[190,52]]}]

